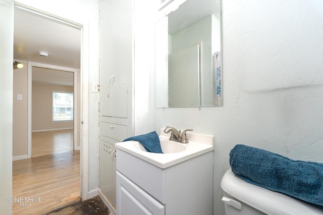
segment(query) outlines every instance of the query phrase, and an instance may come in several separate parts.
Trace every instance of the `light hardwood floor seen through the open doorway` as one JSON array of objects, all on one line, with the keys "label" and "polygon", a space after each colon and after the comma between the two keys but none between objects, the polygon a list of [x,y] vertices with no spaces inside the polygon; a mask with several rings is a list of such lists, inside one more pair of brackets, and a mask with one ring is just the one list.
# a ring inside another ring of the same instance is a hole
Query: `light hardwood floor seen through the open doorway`
[{"label": "light hardwood floor seen through the open doorway", "polygon": [[[33,133],[38,142],[32,140],[32,158],[13,162],[14,215],[43,214],[80,200],[80,152],[73,151],[73,130],[49,133]],[[54,154],[45,155],[49,151]]]}]

